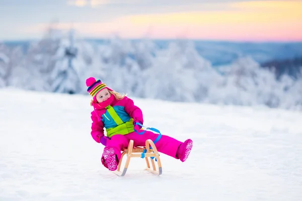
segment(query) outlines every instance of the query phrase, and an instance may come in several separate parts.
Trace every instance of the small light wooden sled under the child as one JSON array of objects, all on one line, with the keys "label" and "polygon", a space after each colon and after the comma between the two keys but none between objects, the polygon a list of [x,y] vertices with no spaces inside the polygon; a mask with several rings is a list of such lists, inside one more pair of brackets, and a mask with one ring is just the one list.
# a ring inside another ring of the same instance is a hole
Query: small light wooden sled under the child
[{"label": "small light wooden sled under the child", "polygon": [[[150,149],[150,146],[152,147],[152,149]],[[119,161],[119,164],[117,166],[117,170],[112,171],[112,172],[119,175],[119,176],[124,176],[126,174],[127,169],[128,169],[130,158],[132,158],[132,157],[141,158],[142,153],[145,149],[146,149],[146,153],[144,153],[144,158],[145,158],[145,161],[146,161],[146,164],[147,164],[147,168],[145,170],[147,170],[147,171],[149,171],[153,174],[161,175],[163,173],[163,170],[162,170],[162,163],[161,163],[161,159],[160,159],[160,154],[157,151],[157,148],[156,148],[156,146],[155,146],[155,144],[153,143],[152,140],[146,140],[146,146],[145,147],[133,147],[133,140],[130,140],[128,148],[123,148],[122,149],[123,153],[122,153],[121,159]],[[125,166],[124,166],[123,170],[120,171],[124,155],[127,156],[127,159],[126,159],[126,163],[125,163]],[[150,157],[155,157],[157,159],[158,167],[159,167],[158,170],[157,170],[156,165],[155,165],[155,159],[152,159]],[[152,168],[150,168],[149,158],[151,160]]]}]

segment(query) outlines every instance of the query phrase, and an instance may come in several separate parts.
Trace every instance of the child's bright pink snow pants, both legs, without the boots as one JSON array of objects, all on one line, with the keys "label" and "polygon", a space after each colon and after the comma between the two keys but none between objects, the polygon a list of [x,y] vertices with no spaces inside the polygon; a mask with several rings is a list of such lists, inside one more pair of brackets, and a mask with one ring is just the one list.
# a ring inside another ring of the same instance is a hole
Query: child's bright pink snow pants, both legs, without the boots
[{"label": "child's bright pink snow pants, both legs, without the boots", "polygon": [[[154,141],[158,136],[159,134],[153,133],[151,131],[146,131],[142,135],[139,135],[136,132],[132,132],[127,135],[114,135],[111,137],[111,140],[107,140],[107,145],[105,146],[104,150],[113,148],[118,158],[117,162],[119,162],[122,155],[121,149],[128,147],[130,140],[133,140],[133,146],[145,146],[146,140],[150,139]],[[162,135],[161,139],[157,143],[155,143],[156,148],[159,152],[167,154],[168,156],[172,156],[174,158],[177,158],[177,149],[181,144],[182,142],[166,135]]]}]

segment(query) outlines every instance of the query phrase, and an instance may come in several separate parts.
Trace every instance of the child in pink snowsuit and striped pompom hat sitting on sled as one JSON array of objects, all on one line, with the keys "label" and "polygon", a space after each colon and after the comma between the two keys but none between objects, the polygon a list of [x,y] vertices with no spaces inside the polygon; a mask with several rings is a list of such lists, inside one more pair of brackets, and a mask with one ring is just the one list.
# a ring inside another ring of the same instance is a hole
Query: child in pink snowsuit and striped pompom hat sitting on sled
[{"label": "child in pink snowsuit and striped pompom hat sitting on sled", "polygon": [[[101,158],[103,165],[111,171],[117,169],[121,158],[121,149],[127,147],[130,140],[133,146],[145,146],[147,139],[155,140],[159,134],[146,131],[140,135],[137,131],[141,127],[136,123],[143,124],[142,112],[134,105],[133,100],[109,88],[101,80],[90,77],[86,80],[87,91],[93,97],[91,106],[93,139],[102,143],[105,148]],[[104,135],[106,128],[107,136]],[[169,136],[162,135],[156,143],[159,152],[180,159],[184,162],[192,149],[191,139],[180,142]]]}]

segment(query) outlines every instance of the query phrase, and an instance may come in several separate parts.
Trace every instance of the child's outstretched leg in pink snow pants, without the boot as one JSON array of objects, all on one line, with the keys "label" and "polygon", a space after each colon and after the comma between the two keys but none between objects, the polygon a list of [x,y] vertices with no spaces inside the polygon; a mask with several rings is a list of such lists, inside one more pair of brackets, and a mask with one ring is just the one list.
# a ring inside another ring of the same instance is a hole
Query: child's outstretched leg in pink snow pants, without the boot
[{"label": "child's outstretched leg in pink snow pants, without the boot", "polygon": [[[134,146],[145,146],[146,140],[150,139],[152,141],[155,141],[155,139],[159,136],[159,134],[155,134],[150,131],[146,131],[144,134],[139,135],[135,132],[129,133],[125,135],[128,140],[134,141]],[[155,144],[158,151],[164,154],[167,154],[168,156],[172,156],[174,158],[178,157],[176,156],[178,147],[182,144],[182,142],[166,136],[162,135],[161,139]]]}]

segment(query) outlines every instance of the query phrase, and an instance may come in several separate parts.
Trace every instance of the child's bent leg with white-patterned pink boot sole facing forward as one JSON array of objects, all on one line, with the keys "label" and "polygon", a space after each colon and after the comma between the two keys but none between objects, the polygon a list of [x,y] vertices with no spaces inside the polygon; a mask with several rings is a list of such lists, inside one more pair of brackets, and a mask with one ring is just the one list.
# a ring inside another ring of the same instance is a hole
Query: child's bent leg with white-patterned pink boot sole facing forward
[{"label": "child's bent leg with white-patterned pink boot sole facing forward", "polygon": [[124,135],[114,135],[107,141],[101,158],[103,165],[109,170],[117,169],[117,164],[121,158],[121,149],[128,146],[128,140]]}]

